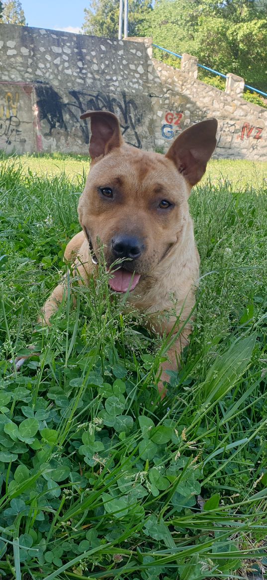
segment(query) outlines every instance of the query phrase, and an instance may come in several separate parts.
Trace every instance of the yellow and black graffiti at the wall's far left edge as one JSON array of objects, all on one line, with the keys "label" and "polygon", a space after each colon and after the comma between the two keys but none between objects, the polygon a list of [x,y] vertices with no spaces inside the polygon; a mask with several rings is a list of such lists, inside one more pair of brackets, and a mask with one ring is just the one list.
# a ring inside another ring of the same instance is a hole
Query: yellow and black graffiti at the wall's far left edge
[{"label": "yellow and black graffiti at the wall's far left edge", "polygon": [[3,103],[0,104],[0,143],[10,145],[20,140],[20,119],[17,117],[19,93],[13,97],[6,92]]}]

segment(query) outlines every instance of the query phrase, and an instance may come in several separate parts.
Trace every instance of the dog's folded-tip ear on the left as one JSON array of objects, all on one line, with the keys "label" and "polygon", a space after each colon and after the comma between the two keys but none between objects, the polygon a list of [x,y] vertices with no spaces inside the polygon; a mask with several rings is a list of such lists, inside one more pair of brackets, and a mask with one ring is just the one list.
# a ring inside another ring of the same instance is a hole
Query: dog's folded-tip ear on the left
[{"label": "dog's folded-tip ear on the left", "polygon": [[92,160],[100,155],[107,155],[114,147],[123,143],[120,134],[119,119],[109,111],[86,111],[80,119],[91,119],[91,139],[89,153]]}]

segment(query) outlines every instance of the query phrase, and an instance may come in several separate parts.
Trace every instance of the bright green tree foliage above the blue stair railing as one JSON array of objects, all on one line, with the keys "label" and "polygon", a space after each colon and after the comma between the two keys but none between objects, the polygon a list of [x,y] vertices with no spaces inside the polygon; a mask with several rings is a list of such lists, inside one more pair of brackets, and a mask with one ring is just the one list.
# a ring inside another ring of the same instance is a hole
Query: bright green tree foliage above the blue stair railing
[{"label": "bright green tree foliage above the blue stair railing", "polygon": [[[235,73],[266,92],[266,9],[265,1],[254,0],[158,0],[142,35],[178,54],[194,55],[220,73]],[[177,66],[166,53],[155,55]]]}]

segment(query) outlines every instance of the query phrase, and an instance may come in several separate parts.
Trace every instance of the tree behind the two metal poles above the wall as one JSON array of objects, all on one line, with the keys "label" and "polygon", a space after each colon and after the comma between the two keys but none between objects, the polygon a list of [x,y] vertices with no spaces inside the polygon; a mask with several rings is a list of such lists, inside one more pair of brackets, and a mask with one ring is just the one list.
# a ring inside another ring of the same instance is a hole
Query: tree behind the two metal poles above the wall
[{"label": "tree behind the two metal poles above the wall", "polygon": [[[119,28],[119,0],[93,0],[85,8],[84,34],[115,38]],[[144,22],[152,12],[149,0],[129,0],[129,36],[140,36]]]}]

